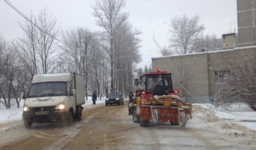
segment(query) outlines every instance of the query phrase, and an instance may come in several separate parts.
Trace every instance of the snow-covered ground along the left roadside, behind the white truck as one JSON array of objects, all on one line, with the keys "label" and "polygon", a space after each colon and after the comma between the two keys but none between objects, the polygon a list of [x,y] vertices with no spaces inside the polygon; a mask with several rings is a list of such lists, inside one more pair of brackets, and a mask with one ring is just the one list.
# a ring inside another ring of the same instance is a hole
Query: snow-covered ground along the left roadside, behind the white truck
[{"label": "snow-covered ground along the left roadside, behind the white truck", "polygon": [[[97,99],[96,104],[105,103],[105,97],[102,100]],[[20,108],[17,106],[11,107],[11,109],[6,109],[3,104],[0,106],[0,124],[5,122],[10,122],[14,120],[22,120],[22,108],[24,105],[24,100],[20,101]],[[88,97],[88,101],[86,101],[85,105],[92,105],[92,97]]]}]

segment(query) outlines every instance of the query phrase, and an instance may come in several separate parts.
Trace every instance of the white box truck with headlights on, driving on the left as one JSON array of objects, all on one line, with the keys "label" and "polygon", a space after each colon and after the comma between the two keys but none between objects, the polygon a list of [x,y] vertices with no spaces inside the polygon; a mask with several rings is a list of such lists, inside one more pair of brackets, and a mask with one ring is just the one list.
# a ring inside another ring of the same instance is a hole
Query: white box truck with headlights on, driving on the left
[{"label": "white box truck with headlights on, driving on the left", "polygon": [[25,128],[33,122],[65,122],[82,119],[84,77],[76,73],[36,74],[23,106]]}]

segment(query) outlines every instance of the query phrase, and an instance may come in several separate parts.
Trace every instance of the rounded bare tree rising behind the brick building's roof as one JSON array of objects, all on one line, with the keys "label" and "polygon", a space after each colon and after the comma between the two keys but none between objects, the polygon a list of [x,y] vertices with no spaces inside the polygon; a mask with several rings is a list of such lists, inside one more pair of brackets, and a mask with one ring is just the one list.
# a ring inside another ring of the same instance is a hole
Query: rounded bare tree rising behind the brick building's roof
[{"label": "rounded bare tree rising behind the brick building's roof", "polygon": [[169,26],[169,47],[177,53],[194,53],[202,45],[200,39],[205,28],[204,24],[200,24],[200,16],[176,16],[172,18]]}]

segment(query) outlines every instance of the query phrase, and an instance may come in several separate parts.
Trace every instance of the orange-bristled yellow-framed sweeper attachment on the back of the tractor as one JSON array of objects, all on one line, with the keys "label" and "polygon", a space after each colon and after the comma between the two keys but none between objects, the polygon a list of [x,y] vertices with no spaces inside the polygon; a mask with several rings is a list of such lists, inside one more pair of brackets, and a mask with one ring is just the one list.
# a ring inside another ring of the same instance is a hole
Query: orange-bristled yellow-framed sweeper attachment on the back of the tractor
[{"label": "orange-bristled yellow-framed sweeper attachment on the back of the tractor", "polygon": [[182,103],[178,96],[154,96],[152,99],[137,98],[136,115],[140,126],[148,126],[151,120],[170,122],[172,125],[186,126],[188,118],[192,118],[192,104]]}]

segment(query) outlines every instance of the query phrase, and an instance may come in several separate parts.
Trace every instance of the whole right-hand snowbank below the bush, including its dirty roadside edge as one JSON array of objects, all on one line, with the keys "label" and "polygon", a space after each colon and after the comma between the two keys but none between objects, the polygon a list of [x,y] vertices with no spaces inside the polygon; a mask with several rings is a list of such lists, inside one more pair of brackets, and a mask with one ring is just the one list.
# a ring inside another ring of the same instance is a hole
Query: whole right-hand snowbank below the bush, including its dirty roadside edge
[{"label": "whole right-hand snowbank below the bush, including its dirty roadside edge", "polygon": [[193,104],[193,110],[196,110],[193,114],[198,115],[197,113],[199,113],[199,117],[206,115],[206,120],[209,122],[222,121],[222,128],[244,132],[256,131],[256,112],[244,104],[235,104],[230,110],[216,108],[211,104]]}]

